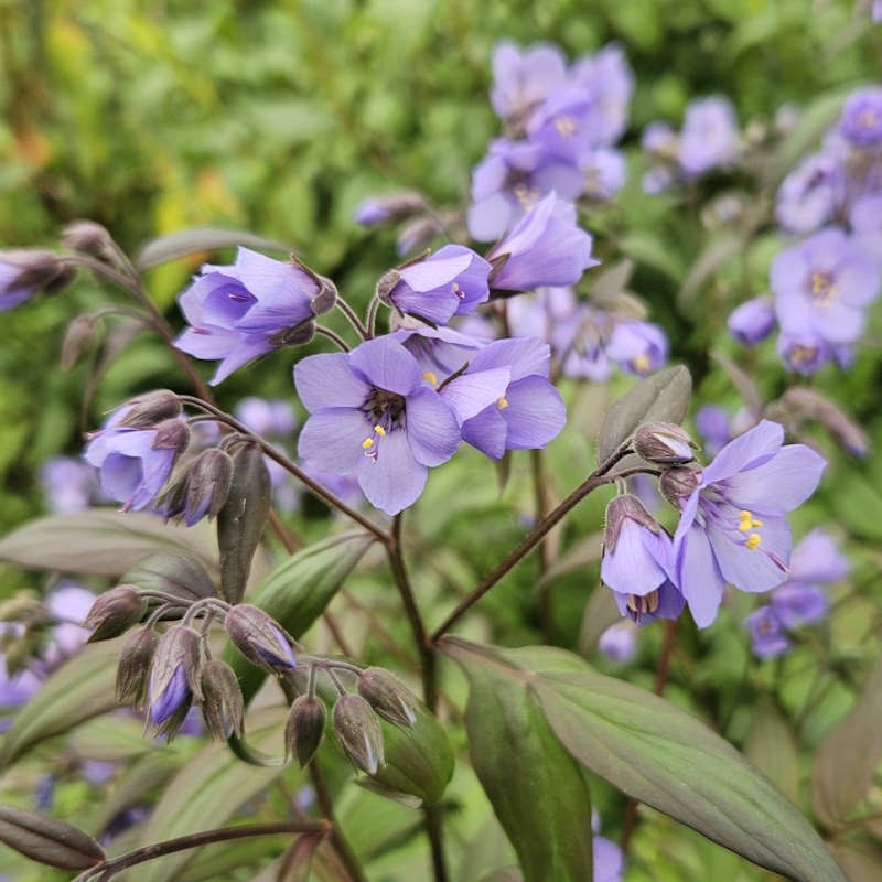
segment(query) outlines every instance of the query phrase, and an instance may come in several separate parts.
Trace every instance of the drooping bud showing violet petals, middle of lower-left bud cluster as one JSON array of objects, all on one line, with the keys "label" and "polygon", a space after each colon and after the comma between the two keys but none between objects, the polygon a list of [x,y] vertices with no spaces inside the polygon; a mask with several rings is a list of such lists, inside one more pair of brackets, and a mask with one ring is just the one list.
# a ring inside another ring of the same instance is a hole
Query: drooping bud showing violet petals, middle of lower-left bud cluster
[{"label": "drooping bud showing violet petals, middle of lower-left bud cluster", "polygon": [[148,706],[150,722],[172,738],[194,698],[202,699],[201,637],[187,625],[172,625],[159,639],[150,667]]}]

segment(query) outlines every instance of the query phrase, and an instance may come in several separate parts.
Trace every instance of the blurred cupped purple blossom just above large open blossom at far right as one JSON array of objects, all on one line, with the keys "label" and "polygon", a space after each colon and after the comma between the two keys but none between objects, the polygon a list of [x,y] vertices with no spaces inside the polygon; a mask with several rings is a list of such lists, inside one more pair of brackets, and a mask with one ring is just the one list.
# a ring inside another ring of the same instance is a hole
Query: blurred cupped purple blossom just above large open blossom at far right
[{"label": "blurred cupped purple blossom just above large open blossom at far right", "polygon": [[832,218],[845,197],[845,174],[837,157],[815,153],[782,182],[777,222],[790,233],[810,233]]}]

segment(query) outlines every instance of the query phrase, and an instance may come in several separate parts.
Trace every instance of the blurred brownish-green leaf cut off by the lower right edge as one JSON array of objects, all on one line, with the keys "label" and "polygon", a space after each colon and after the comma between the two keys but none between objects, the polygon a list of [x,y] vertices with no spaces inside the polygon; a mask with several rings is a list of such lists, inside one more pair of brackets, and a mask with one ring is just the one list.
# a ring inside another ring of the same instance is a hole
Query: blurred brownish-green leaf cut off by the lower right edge
[{"label": "blurred brownish-green leaf cut off by the lower right edge", "polygon": [[882,656],[851,712],[821,742],[811,776],[818,817],[836,826],[867,795],[882,760]]}]

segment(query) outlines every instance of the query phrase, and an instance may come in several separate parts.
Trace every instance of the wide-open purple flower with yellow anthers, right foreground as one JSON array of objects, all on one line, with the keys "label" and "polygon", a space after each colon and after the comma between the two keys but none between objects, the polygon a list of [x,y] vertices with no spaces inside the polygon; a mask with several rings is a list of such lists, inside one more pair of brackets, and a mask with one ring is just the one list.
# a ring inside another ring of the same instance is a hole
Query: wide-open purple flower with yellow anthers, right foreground
[{"label": "wide-open purple flower with yellow anthers, right foreground", "polygon": [[787,578],[784,515],[811,495],[826,462],[805,444],[783,441],[784,429],[768,420],[730,441],[682,505],[677,583],[699,627],[716,617],[727,582],[759,592]]}]

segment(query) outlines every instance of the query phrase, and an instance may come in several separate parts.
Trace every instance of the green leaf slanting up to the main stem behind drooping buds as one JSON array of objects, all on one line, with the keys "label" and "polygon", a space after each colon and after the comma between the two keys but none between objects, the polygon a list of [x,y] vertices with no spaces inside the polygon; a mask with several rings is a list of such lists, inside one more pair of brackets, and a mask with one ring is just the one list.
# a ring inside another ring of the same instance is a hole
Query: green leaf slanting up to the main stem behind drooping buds
[{"label": "green leaf slanting up to the main stem behind drooping buds", "polygon": [[[303,548],[270,572],[248,600],[298,638],[322,614],[373,541],[369,534],[353,530]],[[224,658],[236,671],[247,703],[266,671],[232,647]]]}]

